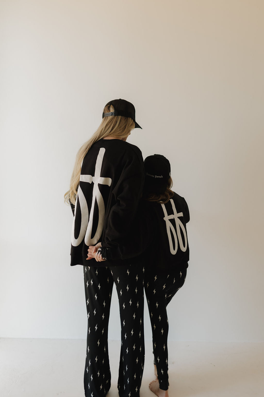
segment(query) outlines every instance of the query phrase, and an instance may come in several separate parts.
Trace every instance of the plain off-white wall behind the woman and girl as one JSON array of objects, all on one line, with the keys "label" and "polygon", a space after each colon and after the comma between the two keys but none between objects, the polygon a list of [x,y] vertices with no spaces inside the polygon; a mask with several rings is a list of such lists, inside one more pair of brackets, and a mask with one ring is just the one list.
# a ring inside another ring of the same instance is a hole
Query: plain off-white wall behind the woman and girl
[{"label": "plain off-white wall behind the woman and girl", "polygon": [[[2,0],[0,336],[85,338],[63,203],[106,102],[171,161],[190,265],[170,339],[263,341],[264,3]],[[109,338],[118,339],[114,294]],[[146,316],[146,338],[150,339]]]}]

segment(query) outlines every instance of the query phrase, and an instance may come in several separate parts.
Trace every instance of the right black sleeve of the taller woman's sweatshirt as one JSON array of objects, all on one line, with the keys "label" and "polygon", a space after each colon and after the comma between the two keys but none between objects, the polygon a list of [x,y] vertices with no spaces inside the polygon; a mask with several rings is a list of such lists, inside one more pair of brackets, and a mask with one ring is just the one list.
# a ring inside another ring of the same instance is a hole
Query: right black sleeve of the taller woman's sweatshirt
[{"label": "right black sleeve of the taller woman's sweatshirt", "polygon": [[127,156],[116,187],[112,191],[114,205],[110,206],[102,247],[114,248],[125,238],[136,217],[144,184],[143,158],[133,152]]}]

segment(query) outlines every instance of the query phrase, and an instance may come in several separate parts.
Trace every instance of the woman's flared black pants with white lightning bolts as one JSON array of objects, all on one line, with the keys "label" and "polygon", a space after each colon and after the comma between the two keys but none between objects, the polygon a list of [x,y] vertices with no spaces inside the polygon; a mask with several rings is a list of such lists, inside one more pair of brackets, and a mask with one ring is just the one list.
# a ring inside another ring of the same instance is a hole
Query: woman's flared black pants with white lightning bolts
[{"label": "woman's flared black pants with white lightning bolts", "polygon": [[119,395],[139,397],[144,368],[143,273],[142,264],[128,267],[84,266],[88,317],[85,397],[104,397],[110,389],[108,321],[114,283],[121,320]]}]

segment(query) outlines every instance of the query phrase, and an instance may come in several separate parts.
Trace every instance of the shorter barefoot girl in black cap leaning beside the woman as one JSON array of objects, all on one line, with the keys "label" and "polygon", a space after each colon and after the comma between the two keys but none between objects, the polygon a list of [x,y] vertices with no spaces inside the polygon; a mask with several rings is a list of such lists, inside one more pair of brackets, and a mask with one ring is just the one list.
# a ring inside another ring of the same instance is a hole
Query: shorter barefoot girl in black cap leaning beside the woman
[{"label": "shorter barefoot girl in black cap leaning beside the woman", "polygon": [[155,224],[144,276],[152,326],[154,374],[157,376],[149,388],[159,397],[168,397],[166,307],[186,278],[189,260],[186,223],[190,215],[184,198],[171,191],[171,166],[167,158],[160,154],[148,156],[144,167],[144,198],[148,200],[148,210]]}]

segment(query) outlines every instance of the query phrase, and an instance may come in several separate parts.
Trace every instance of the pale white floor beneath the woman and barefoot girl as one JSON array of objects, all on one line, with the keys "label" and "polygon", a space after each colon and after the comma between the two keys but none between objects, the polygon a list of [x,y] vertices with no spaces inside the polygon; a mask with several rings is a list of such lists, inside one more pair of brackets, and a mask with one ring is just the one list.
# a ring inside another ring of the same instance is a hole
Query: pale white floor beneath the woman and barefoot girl
[{"label": "pale white floor beneath the woman and barefoot girl", "polygon": [[[84,397],[86,341],[0,339],[0,397]],[[109,342],[118,397],[119,341]],[[146,341],[141,397],[154,397],[152,345]],[[264,396],[264,343],[169,343],[170,397]]]}]

